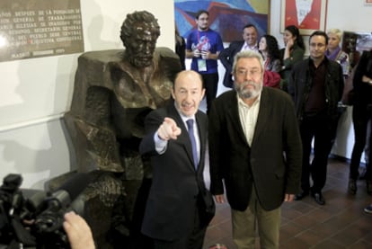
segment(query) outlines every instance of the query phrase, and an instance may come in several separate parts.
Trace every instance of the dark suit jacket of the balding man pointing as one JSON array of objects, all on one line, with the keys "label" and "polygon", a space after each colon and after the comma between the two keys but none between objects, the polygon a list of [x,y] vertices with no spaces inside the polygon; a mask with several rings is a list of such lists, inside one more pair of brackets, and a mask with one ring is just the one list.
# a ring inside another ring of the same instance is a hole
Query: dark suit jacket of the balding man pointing
[{"label": "dark suit jacket of the balding man pointing", "polygon": [[[166,151],[159,155],[155,151],[154,135],[165,117],[175,120],[182,133],[176,140],[169,140]],[[193,164],[189,134],[174,103],[152,111],[146,117],[146,136],[139,147],[142,155],[151,156],[153,167],[153,183],[142,224],[142,232],[146,236],[172,241],[190,233],[198,195],[206,191],[203,170],[208,118],[201,111],[195,117],[200,139],[197,172]]]}]

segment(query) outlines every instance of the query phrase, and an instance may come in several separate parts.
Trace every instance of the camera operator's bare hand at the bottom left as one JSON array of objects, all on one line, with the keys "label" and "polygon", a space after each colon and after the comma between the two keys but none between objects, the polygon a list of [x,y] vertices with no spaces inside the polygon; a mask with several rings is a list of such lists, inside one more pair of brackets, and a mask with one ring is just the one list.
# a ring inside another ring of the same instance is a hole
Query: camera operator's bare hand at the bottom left
[{"label": "camera operator's bare hand at the bottom left", "polygon": [[75,212],[65,214],[63,222],[71,249],[94,249],[94,240],[91,228],[86,224],[84,218],[76,215]]}]

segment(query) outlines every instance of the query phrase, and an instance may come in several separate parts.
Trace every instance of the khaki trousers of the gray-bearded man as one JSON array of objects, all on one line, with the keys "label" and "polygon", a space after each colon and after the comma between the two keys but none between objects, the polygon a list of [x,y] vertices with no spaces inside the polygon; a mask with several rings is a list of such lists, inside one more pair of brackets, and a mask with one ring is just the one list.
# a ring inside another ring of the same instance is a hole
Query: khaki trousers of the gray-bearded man
[{"label": "khaki trousers of the gray-bearded man", "polygon": [[255,248],[256,221],[261,249],[279,248],[280,208],[262,209],[254,188],[244,211],[231,209],[233,240],[238,249]]}]

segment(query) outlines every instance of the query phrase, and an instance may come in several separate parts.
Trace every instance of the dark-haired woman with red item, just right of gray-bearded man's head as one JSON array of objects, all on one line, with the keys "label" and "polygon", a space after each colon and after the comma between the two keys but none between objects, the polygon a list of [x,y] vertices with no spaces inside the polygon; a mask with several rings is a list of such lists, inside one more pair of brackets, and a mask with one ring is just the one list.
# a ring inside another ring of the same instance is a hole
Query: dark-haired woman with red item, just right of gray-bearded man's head
[{"label": "dark-haired woman with red item, just right of gray-bearded man's head", "polygon": [[261,52],[265,68],[263,85],[279,88],[281,58],[278,40],[270,34],[263,35],[259,43],[259,50]]}]

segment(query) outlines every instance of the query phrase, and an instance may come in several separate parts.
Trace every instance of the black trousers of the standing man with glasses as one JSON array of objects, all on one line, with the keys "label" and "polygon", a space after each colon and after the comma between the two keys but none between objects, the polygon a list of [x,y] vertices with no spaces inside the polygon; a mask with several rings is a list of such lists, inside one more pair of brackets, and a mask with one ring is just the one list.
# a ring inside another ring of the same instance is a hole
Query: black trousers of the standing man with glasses
[{"label": "black trousers of the standing man with glasses", "polygon": [[[328,156],[332,148],[332,137],[336,120],[331,120],[326,114],[318,114],[305,118],[300,124],[303,146],[303,162],[301,187],[310,191],[310,176],[313,180],[311,191],[321,192],[327,178]],[[314,158],[310,162],[312,141],[314,138]]]}]

